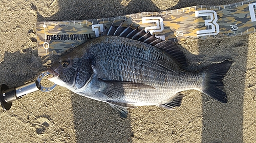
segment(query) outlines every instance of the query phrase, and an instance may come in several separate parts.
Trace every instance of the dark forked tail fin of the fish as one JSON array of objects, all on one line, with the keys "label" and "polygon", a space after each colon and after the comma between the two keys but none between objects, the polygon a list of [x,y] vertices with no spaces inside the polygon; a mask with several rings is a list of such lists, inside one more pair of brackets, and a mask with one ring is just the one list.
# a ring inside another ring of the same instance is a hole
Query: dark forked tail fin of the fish
[{"label": "dark forked tail fin of the fish", "polygon": [[215,100],[222,103],[227,103],[227,95],[223,91],[224,84],[222,80],[231,65],[232,62],[226,60],[205,69],[204,71],[207,72],[207,74],[204,78],[202,92]]}]

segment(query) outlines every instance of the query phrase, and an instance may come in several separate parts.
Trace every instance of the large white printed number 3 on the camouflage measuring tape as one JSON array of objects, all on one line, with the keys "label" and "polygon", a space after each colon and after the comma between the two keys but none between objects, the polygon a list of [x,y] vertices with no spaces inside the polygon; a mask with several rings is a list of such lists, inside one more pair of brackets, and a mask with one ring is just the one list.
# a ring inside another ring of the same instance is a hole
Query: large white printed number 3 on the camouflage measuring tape
[{"label": "large white printed number 3 on the camouflage measuring tape", "polygon": [[218,17],[217,13],[213,10],[200,10],[200,11],[195,11],[195,16],[196,17],[201,17],[201,16],[208,16],[207,20],[204,20],[204,25],[205,26],[211,26],[211,29],[209,27],[208,30],[200,30],[197,31],[198,36],[206,36],[206,35],[217,35],[220,32],[219,24],[217,23]]}]

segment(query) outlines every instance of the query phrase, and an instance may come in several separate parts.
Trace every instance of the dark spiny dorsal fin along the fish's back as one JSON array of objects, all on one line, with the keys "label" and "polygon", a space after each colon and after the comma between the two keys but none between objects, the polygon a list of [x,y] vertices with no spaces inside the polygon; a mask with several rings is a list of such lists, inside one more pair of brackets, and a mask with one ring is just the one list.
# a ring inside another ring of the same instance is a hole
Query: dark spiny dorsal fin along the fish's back
[{"label": "dark spiny dorsal fin along the fish's back", "polygon": [[133,29],[132,24],[127,27],[122,27],[123,22],[124,21],[122,21],[119,26],[114,26],[112,23],[110,28],[107,28],[105,25],[102,35],[120,36],[150,44],[169,53],[180,67],[187,66],[186,57],[178,46],[156,38],[155,35],[151,35],[150,32],[146,33],[144,29],[139,30],[139,27]]}]

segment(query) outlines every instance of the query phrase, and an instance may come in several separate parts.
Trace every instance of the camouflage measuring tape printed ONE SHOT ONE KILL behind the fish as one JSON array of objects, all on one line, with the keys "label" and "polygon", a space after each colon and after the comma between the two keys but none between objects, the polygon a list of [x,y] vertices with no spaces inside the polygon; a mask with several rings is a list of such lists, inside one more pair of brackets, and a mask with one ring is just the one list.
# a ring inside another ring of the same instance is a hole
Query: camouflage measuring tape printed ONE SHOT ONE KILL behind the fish
[{"label": "camouflage measuring tape printed ONE SHOT ONE KILL behind the fish", "polygon": [[236,36],[255,32],[256,0],[222,6],[194,6],[162,12],[142,12],[125,16],[36,22],[38,55],[58,55],[72,46],[98,37],[103,25],[140,26],[163,40],[195,37]]}]

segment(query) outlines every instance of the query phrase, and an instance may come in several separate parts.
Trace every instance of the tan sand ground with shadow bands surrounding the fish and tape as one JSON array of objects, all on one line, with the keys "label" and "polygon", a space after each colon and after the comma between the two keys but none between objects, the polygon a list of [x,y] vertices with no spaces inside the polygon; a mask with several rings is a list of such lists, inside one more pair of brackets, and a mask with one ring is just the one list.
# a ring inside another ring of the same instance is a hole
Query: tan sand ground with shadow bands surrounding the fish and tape
[{"label": "tan sand ground with shadow bands surrounding the fish and tape", "polygon": [[[10,1],[0,5],[0,84],[18,87],[46,71],[56,58],[38,57],[36,21],[79,20],[240,1]],[[230,59],[224,78],[228,103],[185,91],[176,111],[130,109],[126,120],[106,103],[56,87],[34,92],[0,111],[0,142],[256,142],[256,35],[186,39],[178,44],[198,70]],[[50,82],[50,81],[49,81]]]}]

